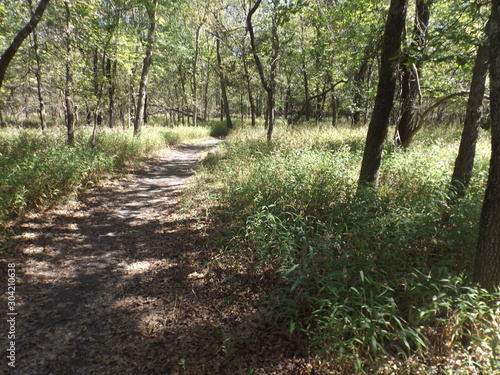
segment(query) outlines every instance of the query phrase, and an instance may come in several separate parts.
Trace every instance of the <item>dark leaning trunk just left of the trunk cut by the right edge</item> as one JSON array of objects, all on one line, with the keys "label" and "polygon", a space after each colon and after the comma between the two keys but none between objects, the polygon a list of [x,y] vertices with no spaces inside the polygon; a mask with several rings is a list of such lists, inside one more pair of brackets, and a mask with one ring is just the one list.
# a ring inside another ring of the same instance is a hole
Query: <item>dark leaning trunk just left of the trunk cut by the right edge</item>
[{"label": "dark leaning trunk just left of the trunk cut by the right edge", "polygon": [[469,187],[469,182],[474,168],[476,156],[476,142],[481,125],[483,97],[488,75],[488,59],[490,47],[482,45],[479,47],[472,74],[467,112],[465,114],[464,129],[460,140],[458,156],[455,160],[455,168],[450,183],[450,197],[452,202],[457,198],[463,198]]}]

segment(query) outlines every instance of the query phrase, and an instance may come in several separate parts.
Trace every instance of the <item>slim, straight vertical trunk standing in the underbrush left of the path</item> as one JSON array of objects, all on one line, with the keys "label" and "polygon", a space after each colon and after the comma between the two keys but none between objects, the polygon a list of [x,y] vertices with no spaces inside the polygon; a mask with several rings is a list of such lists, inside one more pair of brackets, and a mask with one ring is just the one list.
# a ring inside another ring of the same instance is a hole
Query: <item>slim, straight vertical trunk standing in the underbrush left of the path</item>
[{"label": "slim, straight vertical trunk standing in the underbrush left of the path", "polygon": [[66,84],[64,87],[64,104],[66,110],[67,141],[69,145],[75,144],[75,108],[73,105],[73,71],[72,71],[72,45],[71,45],[71,19],[69,1],[64,2],[66,12]]}]

